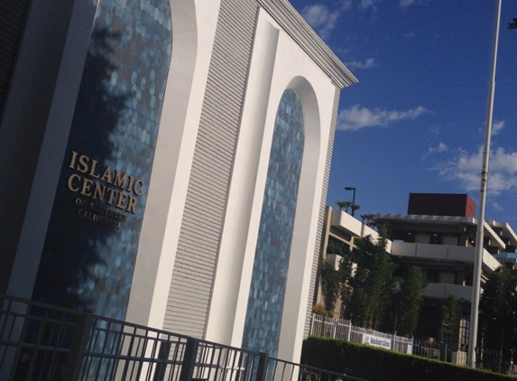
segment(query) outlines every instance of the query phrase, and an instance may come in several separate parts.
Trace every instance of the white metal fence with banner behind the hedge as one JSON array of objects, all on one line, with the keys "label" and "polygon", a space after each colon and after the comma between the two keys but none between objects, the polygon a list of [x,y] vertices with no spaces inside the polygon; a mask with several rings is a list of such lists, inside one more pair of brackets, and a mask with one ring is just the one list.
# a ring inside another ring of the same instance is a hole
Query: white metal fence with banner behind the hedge
[{"label": "white metal fence with banner behind the hedge", "polygon": [[412,338],[356,327],[351,321],[327,318],[318,314],[311,317],[309,335],[370,344],[408,354],[412,353],[413,348]]}]

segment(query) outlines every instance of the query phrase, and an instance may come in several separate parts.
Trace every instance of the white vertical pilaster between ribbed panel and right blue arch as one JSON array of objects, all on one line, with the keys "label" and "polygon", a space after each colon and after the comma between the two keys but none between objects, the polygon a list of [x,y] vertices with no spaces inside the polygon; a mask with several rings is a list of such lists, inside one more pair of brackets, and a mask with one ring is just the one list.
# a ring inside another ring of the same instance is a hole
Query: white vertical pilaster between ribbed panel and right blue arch
[{"label": "white vertical pilaster between ribbed panel and right blue arch", "polygon": [[[260,215],[256,218],[254,213],[262,209],[263,197],[260,181],[257,190],[257,179],[261,176],[264,146],[269,150],[271,145],[264,134],[268,134],[265,120],[278,38],[278,28],[263,18],[258,20],[255,41],[260,43],[254,47],[248,77],[207,323],[207,339],[227,345],[241,345],[245,324],[260,221]],[[270,129],[272,134],[272,126]]]}]

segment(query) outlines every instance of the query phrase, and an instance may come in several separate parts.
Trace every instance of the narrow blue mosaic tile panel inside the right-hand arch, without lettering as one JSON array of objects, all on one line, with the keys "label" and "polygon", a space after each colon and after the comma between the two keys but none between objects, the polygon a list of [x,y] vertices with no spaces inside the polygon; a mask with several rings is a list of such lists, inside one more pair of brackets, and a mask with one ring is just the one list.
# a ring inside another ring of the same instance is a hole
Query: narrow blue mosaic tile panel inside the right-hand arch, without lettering
[{"label": "narrow blue mosaic tile panel inside the right-hand arch, without lettering", "polygon": [[244,348],[273,357],[280,340],[304,141],[300,99],[288,89],[274,122],[243,336]]}]

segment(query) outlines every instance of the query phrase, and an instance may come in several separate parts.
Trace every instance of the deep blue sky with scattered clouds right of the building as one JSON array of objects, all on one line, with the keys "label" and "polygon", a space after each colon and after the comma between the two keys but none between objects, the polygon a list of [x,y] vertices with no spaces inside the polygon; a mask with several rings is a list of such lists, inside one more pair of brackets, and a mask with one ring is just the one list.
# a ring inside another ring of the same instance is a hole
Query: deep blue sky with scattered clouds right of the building
[{"label": "deep blue sky with scattered clouds right of the building", "polygon": [[[406,213],[410,192],[479,206],[496,0],[292,0],[359,83],[341,93],[328,205]],[[503,0],[485,218],[517,231],[517,0]],[[477,217],[478,209],[475,216]]]}]

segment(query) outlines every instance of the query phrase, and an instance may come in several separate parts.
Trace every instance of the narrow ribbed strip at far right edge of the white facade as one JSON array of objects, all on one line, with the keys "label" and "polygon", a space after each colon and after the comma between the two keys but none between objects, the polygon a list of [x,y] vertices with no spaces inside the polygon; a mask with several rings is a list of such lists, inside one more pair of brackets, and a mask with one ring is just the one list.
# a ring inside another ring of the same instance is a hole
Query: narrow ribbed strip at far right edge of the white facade
[{"label": "narrow ribbed strip at far right edge of the white facade", "polygon": [[307,305],[307,318],[305,321],[305,330],[303,337],[309,336],[310,316],[312,315],[312,302],[314,301],[314,293],[316,289],[316,280],[319,264],[319,250],[321,245],[321,233],[323,232],[323,222],[325,219],[325,206],[327,205],[328,179],[330,178],[330,163],[332,162],[332,150],[334,147],[334,135],[336,134],[337,110],[339,107],[340,89],[336,88],[336,96],[334,98],[334,107],[332,108],[332,124],[330,125],[330,133],[328,136],[328,152],[327,161],[325,163],[325,177],[323,179],[323,191],[321,193],[321,206],[319,208],[318,233],[316,234],[316,246],[314,247],[314,256],[312,260],[312,273],[310,274],[310,289]]}]

